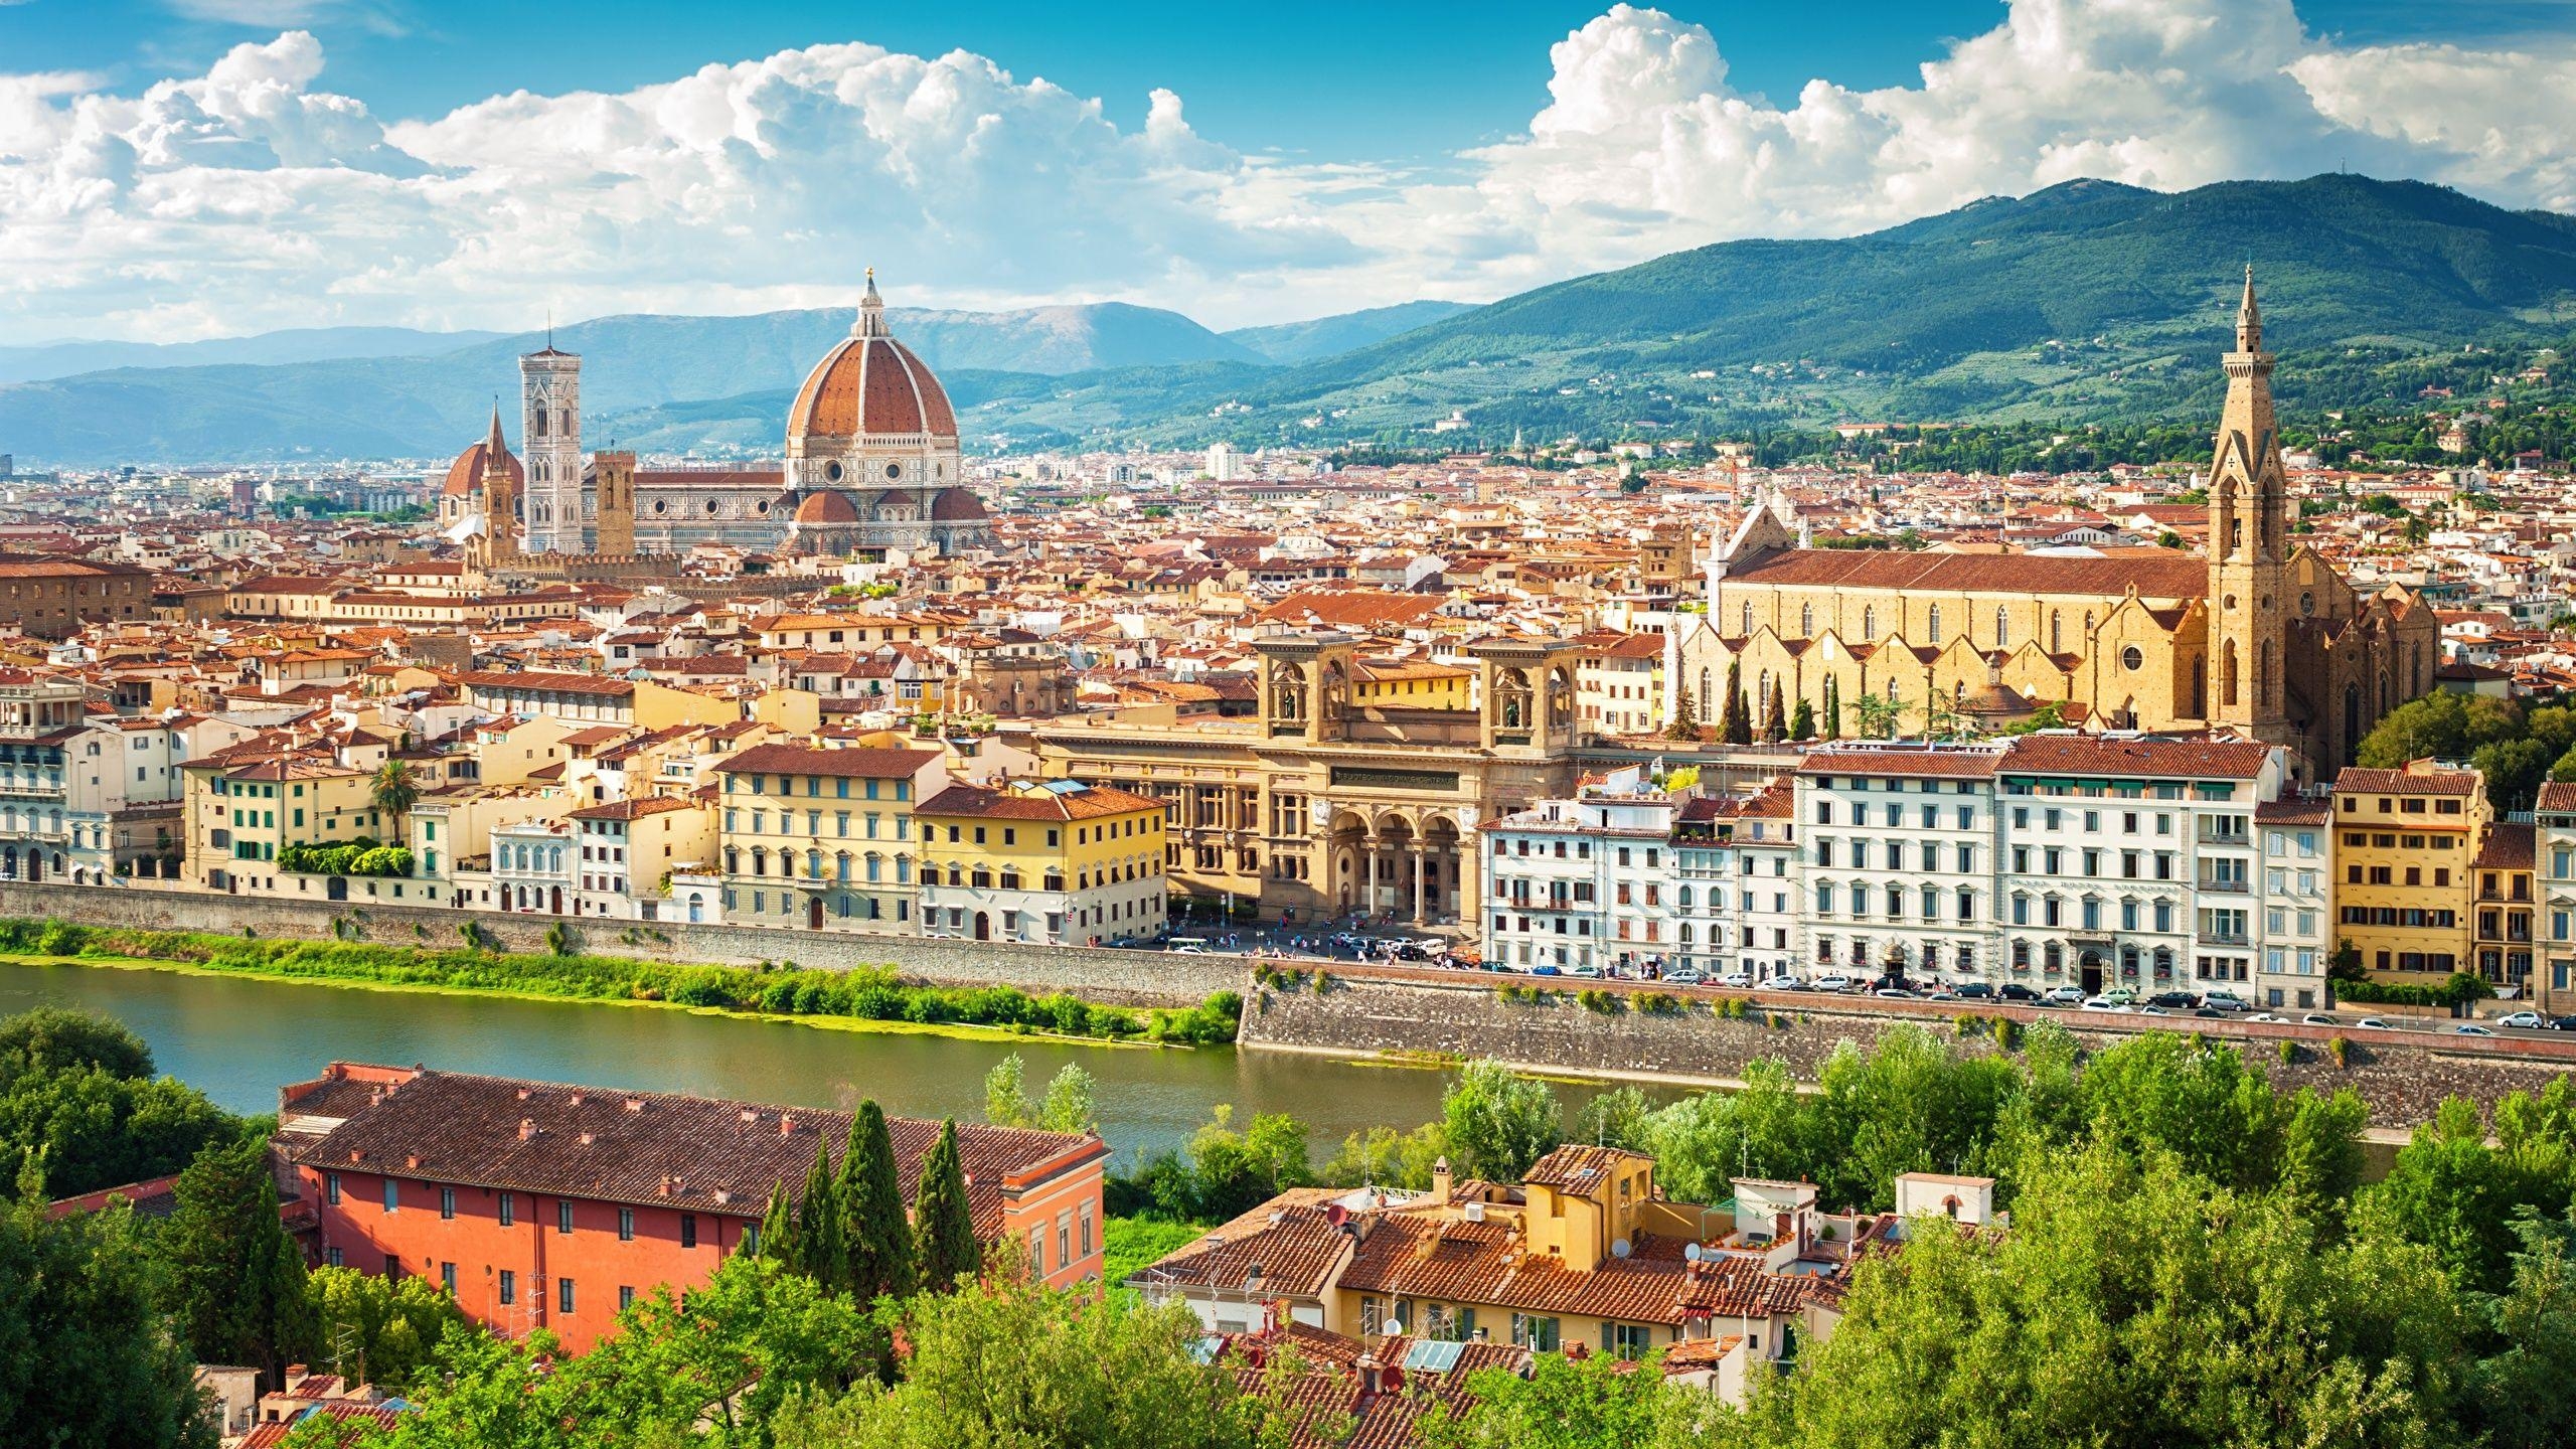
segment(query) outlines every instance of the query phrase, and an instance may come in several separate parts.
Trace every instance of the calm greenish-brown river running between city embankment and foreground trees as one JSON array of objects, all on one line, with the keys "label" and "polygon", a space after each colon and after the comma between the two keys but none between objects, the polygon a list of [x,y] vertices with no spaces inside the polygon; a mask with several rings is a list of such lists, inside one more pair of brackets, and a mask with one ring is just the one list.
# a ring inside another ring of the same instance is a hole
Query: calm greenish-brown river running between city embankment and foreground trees
[{"label": "calm greenish-brown river running between city embankment and foreground trees", "polygon": [[[1427,1122],[1440,1111],[1443,1085],[1440,1073],[1285,1052],[966,1042],[659,1008],[0,962],[0,1016],[31,1006],[116,1016],[152,1044],[162,1073],[232,1111],[276,1111],[281,1083],[319,1075],[337,1057],[801,1106],[855,1106],[873,1096],[902,1116],[981,1122],[984,1073],[1018,1049],[1030,1093],[1066,1062],[1100,1080],[1100,1134],[1121,1163],[1185,1142],[1211,1106],[1234,1104],[1236,1124],[1255,1111],[1296,1114],[1321,1165],[1347,1132]],[[1571,1106],[1589,1093],[1566,1096]]]}]

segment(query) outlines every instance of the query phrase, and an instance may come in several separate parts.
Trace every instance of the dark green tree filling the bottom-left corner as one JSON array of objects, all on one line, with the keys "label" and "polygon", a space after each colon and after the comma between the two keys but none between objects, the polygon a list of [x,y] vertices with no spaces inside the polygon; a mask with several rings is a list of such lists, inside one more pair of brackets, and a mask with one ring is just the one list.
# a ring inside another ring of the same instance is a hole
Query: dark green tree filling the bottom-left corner
[{"label": "dark green tree filling the bottom-left corner", "polygon": [[134,1214],[54,1217],[26,1163],[0,1204],[0,1444],[214,1449],[193,1379],[155,1307]]}]

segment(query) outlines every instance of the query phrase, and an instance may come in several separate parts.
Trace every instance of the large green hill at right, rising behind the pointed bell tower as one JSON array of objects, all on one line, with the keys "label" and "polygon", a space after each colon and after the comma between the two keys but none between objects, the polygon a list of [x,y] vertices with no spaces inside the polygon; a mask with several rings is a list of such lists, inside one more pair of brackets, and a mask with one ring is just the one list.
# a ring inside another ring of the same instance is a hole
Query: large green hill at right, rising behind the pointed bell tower
[{"label": "large green hill at right, rising behind the pointed bell tower", "polygon": [[1721,242],[1507,297],[1270,374],[1229,425],[1293,431],[1324,410],[1347,410],[1345,431],[1427,425],[1461,405],[1504,436],[2164,407],[2215,384],[2249,260],[2275,348],[2447,348],[2576,317],[2571,217],[2360,175],[2182,193],[2071,180],[1865,237]]}]

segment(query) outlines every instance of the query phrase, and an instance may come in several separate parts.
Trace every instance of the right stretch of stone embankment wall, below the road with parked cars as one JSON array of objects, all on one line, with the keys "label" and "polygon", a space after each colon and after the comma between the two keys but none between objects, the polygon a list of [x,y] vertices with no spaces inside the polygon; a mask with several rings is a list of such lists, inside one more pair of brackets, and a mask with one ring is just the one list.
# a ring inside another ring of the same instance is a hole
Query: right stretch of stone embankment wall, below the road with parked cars
[{"label": "right stretch of stone embankment wall, below the road with parked cars", "polygon": [[[1638,1011],[1641,993],[1620,998],[1618,1011],[1592,1011],[1571,993],[1548,993],[1540,1003],[1504,1000],[1497,977],[1383,980],[1329,972],[1316,993],[1306,977],[1293,987],[1255,990],[1244,1003],[1244,1044],[1293,1052],[1332,1052],[1352,1057],[1440,1052],[1450,1057],[1499,1057],[1504,1062],[1582,1075],[1646,1075],[1685,1083],[1734,1083],[1762,1057],[1788,1065],[1790,1075],[1814,1083],[1826,1057],[1842,1042],[1868,1047],[1886,1031],[1914,1021],[1940,1036],[1958,1031],[1955,1006],[1911,1011],[1906,1003],[1795,1006],[1726,1018],[1710,1000],[1687,1000],[1677,1013]],[[1528,977],[1499,977],[1528,985]],[[2427,1122],[2447,1096],[2481,1106],[2514,1088],[2537,1091],[2566,1073],[2561,1042],[2483,1042],[2442,1039],[2411,1031],[2336,1031],[2326,1026],[2272,1026],[2205,1018],[2107,1018],[2138,1026],[2105,1026],[2102,1016],[2030,1008],[1973,1008],[1976,1016],[2020,1021],[2058,1021],[2087,1047],[2110,1047],[2136,1031],[2205,1029],[2213,1042],[2239,1042],[2246,1062],[2262,1067],[2282,1088],[2354,1088],[2370,1104],[2372,1127],[2411,1127]],[[2344,1065],[2334,1065],[2329,1042],[2344,1039]],[[2280,1042],[2293,1042],[2295,1062],[2280,1060]],[[1989,1031],[1965,1036],[1976,1052],[1996,1049]],[[2540,1055],[2550,1052],[2550,1055]]]}]

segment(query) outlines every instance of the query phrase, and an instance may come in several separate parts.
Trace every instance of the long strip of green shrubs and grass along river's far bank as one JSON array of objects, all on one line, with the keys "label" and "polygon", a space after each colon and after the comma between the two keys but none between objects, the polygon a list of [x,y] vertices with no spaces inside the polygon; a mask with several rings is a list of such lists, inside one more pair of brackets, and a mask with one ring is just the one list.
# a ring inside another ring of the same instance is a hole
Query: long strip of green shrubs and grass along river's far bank
[{"label": "long strip of green shrubs and grass along river's far bank", "polygon": [[368,941],[265,941],[206,931],[134,931],[67,920],[0,920],[0,954],[131,957],[209,972],[317,982],[381,982],[466,993],[554,995],[564,1000],[649,1000],[757,1011],[768,1016],[845,1016],[920,1026],[989,1026],[1110,1042],[1213,1047],[1234,1042],[1242,998],[1221,990],[1190,1011],[1095,1006],[1069,993],[1028,995],[1020,987],[933,987],[894,969],[817,972],[775,967],[703,967],[587,954],[487,951],[479,944],[433,949]]}]

